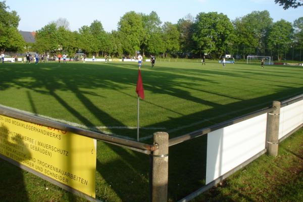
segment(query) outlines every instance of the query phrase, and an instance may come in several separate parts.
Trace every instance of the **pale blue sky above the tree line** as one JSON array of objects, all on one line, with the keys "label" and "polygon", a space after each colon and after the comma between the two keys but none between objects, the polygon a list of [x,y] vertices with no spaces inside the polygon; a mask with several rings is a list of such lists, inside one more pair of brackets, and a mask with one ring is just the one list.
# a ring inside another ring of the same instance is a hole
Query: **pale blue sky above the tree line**
[{"label": "pale blue sky above the tree line", "polygon": [[173,24],[188,14],[195,17],[201,12],[223,13],[234,20],[252,11],[267,10],[274,22],[284,19],[291,23],[303,17],[303,7],[283,10],[274,0],[6,0],[6,5],[10,7],[9,11],[14,10],[20,16],[18,29],[22,31],[37,31],[49,22],[65,18],[70,23],[71,31],[98,20],[110,32],[117,30],[120,18],[129,11],[146,15],[155,11],[163,23]]}]

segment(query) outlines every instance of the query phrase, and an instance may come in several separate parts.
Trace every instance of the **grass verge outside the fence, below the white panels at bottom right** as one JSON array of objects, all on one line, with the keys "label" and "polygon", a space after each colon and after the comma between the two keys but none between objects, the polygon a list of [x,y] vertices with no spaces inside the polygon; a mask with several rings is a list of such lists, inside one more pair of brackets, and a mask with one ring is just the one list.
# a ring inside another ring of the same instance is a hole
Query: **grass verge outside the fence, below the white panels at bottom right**
[{"label": "grass verge outside the fence, below the white panels at bottom right", "polygon": [[303,201],[303,128],[193,201]]}]

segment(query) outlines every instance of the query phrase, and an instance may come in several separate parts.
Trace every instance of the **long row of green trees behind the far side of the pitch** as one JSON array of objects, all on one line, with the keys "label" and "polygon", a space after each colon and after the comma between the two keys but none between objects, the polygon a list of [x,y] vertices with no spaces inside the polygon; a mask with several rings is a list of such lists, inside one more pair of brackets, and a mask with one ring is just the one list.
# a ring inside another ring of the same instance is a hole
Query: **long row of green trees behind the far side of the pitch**
[{"label": "long row of green trees behind the far side of the pitch", "polygon": [[24,47],[30,45],[39,53],[74,55],[80,51],[97,57],[120,58],[139,51],[147,56],[214,59],[225,54],[243,59],[247,55],[271,54],[282,60],[291,48],[303,46],[303,17],[293,23],[283,19],[273,22],[266,10],[235,20],[217,12],[201,12],[195,18],[188,14],[176,24],[163,23],[154,11],[147,15],[131,11],[120,18],[117,30],[111,32],[106,32],[98,20],[71,31],[67,20],[61,18],[37,30],[34,44],[26,44],[17,30],[20,17],[7,9],[5,2],[0,2],[2,51],[24,52]]}]

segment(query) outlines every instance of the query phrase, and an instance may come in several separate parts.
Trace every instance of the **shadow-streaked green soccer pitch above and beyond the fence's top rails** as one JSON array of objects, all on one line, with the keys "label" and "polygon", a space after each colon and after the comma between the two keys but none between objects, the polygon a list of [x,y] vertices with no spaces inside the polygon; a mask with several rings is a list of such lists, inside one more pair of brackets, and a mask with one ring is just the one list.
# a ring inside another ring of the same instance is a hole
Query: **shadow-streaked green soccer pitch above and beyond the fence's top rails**
[{"label": "shadow-streaked green soccer pitch above and beyond the fence's top rails", "polygon": [[[179,136],[303,92],[303,68],[157,62],[141,68],[140,138]],[[136,139],[135,63],[5,63],[0,104]]]}]

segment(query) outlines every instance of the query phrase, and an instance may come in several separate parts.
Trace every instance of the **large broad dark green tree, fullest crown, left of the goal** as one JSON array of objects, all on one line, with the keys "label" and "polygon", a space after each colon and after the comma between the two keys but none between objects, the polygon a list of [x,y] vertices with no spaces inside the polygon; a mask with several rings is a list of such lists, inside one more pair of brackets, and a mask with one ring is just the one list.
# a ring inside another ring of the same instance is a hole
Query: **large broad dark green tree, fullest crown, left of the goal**
[{"label": "large broad dark green tree, fullest crown, left of the goal", "polygon": [[221,57],[233,32],[229,18],[217,12],[199,13],[193,24],[192,39],[200,57],[202,53],[211,54],[214,58]]}]

